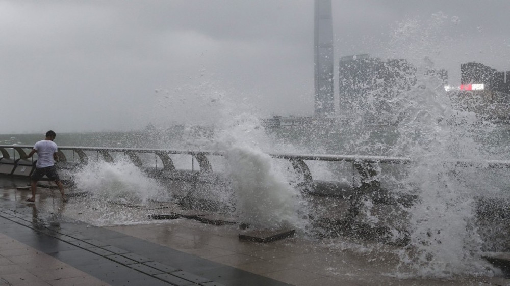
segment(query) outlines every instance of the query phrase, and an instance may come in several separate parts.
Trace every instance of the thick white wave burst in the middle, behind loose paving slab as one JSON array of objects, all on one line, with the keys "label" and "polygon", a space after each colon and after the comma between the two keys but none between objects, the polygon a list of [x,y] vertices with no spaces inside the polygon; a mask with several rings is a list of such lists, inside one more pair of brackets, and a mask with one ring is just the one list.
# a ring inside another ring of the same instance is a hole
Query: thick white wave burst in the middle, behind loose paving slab
[{"label": "thick white wave burst in the middle, behind loose paving slab", "polygon": [[237,215],[256,227],[304,230],[308,208],[296,188],[295,173],[286,168],[290,164],[277,162],[262,151],[271,140],[256,117],[241,113],[232,119],[217,130],[215,145],[224,152],[225,174],[232,182]]}]

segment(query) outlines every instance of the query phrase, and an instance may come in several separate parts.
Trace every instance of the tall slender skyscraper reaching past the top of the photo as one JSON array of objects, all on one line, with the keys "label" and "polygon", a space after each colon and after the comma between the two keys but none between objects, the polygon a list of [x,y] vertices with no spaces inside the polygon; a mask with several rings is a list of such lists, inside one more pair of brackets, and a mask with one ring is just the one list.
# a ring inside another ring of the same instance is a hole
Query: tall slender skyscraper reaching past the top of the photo
[{"label": "tall slender skyscraper reaching past the top of the photo", "polygon": [[331,0],[315,0],[315,115],[335,113]]}]

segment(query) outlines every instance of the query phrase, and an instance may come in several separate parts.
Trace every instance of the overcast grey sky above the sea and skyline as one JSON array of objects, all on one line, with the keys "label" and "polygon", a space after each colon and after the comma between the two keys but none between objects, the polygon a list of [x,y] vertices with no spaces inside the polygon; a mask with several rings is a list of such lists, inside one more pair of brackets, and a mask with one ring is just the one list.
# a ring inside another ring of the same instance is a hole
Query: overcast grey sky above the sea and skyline
[{"label": "overcast grey sky above the sea and skyline", "polygon": [[[311,114],[313,9],[313,0],[0,0],[0,133]],[[464,62],[510,70],[508,11],[506,0],[333,0],[335,56],[429,56],[458,84]]]}]

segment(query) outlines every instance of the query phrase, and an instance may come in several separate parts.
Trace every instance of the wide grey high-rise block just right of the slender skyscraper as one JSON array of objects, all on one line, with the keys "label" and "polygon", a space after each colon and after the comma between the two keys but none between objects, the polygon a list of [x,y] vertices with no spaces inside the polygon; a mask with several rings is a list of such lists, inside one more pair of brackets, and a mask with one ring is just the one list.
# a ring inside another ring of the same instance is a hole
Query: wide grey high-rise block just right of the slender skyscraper
[{"label": "wide grey high-rise block just right of the slender skyscraper", "polygon": [[[339,116],[375,122],[397,120],[398,100],[417,84],[417,68],[405,59],[383,61],[368,54],[339,61]],[[446,70],[426,68],[424,76],[448,80]]]}]

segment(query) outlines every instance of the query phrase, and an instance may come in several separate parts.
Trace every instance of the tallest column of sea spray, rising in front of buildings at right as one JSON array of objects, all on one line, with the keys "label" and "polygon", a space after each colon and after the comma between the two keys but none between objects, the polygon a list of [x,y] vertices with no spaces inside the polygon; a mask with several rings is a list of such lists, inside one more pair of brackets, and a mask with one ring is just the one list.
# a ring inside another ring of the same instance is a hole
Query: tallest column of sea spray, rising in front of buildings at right
[{"label": "tallest column of sea spray, rising in front of buildings at right", "polygon": [[[392,190],[416,198],[413,206],[401,206],[405,213],[399,215],[404,220],[403,231],[409,234],[409,244],[395,251],[400,258],[399,276],[492,273],[487,272],[489,265],[480,258],[483,241],[475,212],[477,196],[483,196],[491,187],[480,186],[480,180],[488,183],[480,169],[456,164],[456,160],[493,156],[483,148],[484,136],[491,133],[492,125],[474,112],[458,108],[444,89],[446,83],[439,70],[442,67],[436,67],[434,61],[439,60],[441,65],[448,56],[441,47],[455,41],[445,33],[449,24],[448,16],[441,12],[425,21],[398,23],[387,56],[405,60],[381,62],[387,65],[387,75],[378,75],[382,84],[375,80],[373,85],[378,88],[353,110],[353,117],[373,114],[384,119],[388,127],[393,126],[394,139],[381,141],[381,155],[405,156],[413,161],[394,178],[384,177],[395,181]],[[353,120],[350,127],[362,128],[360,123]],[[385,128],[380,127],[381,131]],[[360,150],[377,147],[370,142],[377,136],[354,137],[351,146],[355,148],[351,149],[359,154]],[[386,171],[387,167],[382,167]],[[370,207],[365,206],[365,220],[375,224]]]}]

